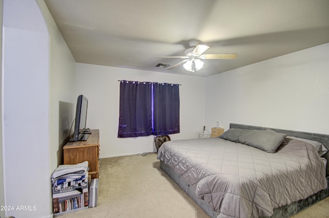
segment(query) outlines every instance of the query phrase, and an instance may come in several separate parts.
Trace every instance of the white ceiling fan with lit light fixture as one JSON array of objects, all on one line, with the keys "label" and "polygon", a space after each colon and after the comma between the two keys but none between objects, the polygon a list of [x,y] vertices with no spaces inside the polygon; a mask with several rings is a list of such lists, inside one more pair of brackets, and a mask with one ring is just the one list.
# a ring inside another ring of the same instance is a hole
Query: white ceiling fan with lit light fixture
[{"label": "white ceiling fan with lit light fixture", "polygon": [[185,58],[185,60],[174,64],[169,67],[167,70],[171,70],[174,67],[177,67],[183,63],[183,67],[191,72],[195,72],[204,67],[204,62],[202,59],[234,59],[237,57],[237,54],[203,54],[209,46],[199,45],[198,41],[190,41],[189,46],[191,48],[185,51],[185,56],[158,56],[158,58]]}]

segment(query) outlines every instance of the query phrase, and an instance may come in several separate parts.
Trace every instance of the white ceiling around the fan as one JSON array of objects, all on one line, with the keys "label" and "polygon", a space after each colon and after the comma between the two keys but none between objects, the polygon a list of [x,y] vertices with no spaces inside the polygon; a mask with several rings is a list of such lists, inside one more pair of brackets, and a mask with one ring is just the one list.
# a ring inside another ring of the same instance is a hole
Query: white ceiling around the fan
[{"label": "white ceiling around the fan", "polygon": [[[76,62],[209,76],[329,43],[328,0],[45,0]],[[233,60],[205,60],[197,72],[174,65],[188,42],[205,54],[237,53]]]}]

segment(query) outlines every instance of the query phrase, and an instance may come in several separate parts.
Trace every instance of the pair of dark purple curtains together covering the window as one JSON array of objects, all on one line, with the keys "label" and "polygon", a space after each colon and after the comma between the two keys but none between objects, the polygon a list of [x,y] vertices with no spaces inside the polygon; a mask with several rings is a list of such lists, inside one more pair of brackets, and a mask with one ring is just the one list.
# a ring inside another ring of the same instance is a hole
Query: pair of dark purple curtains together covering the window
[{"label": "pair of dark purple curtains together covering the window", "polygon": [[179,133],[177,84],[120,82],[118,137]]}]

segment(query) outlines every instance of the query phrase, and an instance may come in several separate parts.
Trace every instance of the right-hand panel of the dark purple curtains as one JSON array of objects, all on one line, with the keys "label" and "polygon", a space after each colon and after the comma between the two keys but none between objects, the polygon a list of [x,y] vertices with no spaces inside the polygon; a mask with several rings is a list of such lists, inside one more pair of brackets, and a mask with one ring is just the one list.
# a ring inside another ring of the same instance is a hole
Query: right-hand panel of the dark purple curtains
[{"label": "right-hand panel of the dark purple curtains", "polygon": [[153,83],[153,134],[179,133],[179,85]]}]

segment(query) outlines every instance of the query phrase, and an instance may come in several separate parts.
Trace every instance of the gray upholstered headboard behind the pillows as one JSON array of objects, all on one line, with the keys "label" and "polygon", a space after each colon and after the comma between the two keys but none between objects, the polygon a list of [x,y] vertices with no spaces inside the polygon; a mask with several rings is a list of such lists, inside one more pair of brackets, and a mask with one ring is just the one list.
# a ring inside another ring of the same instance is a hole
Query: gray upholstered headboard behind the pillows
[{"label": "gray upholstered headboard behind the pillows", "polygon": [[[329,150],[329,135],[326,135],[326,134],[300,132],[300,131],[285,130],[285,129],[275,129],[275,128],[269,128],[269,127],[260,127],[260,126],[250,126],[250,125],[243,125],[243,124],[230,124],[230,128],[253,129],[253,130],[271,129],[273,131],[276,131],[279,133],[285,133],[290,136],[295,136],[295,137],[299,137],[299,138],[305,138],[307,140],[313,140],[313,141],[320,142]],[[326,176],[329,176],[329,151],[326,154],[324,154],[323,157],[327,160]]]}]

